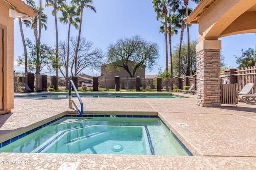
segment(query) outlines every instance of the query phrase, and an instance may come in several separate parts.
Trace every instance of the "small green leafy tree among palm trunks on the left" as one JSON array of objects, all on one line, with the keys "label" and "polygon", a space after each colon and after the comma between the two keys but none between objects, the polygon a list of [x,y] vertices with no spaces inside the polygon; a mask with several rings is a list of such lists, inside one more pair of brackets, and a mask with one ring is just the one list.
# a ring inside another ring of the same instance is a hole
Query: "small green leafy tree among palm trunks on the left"
[{"label": "small green leafy tree among palm trunks on the left", "polygon": [[[36,69],[39,68],[39,73],[42,71],[42,69],[45,66],[50,66],[54,62],[53,56],[54,56],[54,49],[52,47],[48,46],[47,44],[41,44],[39,47],[39,62],[38,62],[38,48],[36,43],[32,43],[30,39],[26,39],[26,44],[28,46],[29,52],[28,52],[28,69],[32,71],[36,71]],[[18,57],[18,66],[25,64],[24,55],[21,57]],[[38,64],[39,63],[39,64]]]}]

